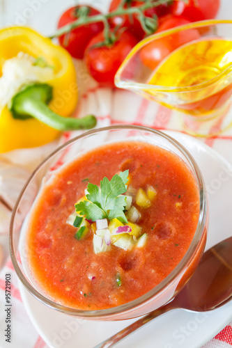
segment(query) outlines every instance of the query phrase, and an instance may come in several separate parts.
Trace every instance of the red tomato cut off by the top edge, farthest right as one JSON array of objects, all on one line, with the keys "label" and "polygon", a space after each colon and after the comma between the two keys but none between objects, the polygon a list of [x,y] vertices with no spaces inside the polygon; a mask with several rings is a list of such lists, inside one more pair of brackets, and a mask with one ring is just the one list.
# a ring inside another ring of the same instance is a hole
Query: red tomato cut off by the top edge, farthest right
[{"label": "red tomato cut off by the top edge, farthest right", "polygon": [[171,6],[173,15],[183,16],[192,22],[215,18],[219,10],[219,0],[190,0],[185,3],[175,0]]}]

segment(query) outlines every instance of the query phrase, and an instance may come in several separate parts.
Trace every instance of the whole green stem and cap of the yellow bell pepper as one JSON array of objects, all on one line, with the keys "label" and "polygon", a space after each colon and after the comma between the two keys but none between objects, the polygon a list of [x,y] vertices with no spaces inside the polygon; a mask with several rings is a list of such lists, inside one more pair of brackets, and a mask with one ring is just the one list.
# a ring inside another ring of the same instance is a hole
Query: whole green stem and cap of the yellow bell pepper
[{"label": "whole green stem and cap of the yellow bell pepper", "polygon": [[10,111],[14,118],[25,120],[33,117],[59,131],[95,127],[96,118],[93,115],[84,118],[60,116],[47,106],[50,100],[52,100],[52,86],[48,84],[30,84],[13,97]]}]

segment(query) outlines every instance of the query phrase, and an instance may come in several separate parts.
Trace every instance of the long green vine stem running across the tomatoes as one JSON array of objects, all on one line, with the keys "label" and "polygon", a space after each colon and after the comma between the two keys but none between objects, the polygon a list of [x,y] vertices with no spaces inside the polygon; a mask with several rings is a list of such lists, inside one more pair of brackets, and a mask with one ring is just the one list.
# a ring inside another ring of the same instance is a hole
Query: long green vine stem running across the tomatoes
[{"label": "long green vine stem running across the tomatoes", "polygon": [[70,24],[66,24],[65,26],[62,26],[60,29],[54,33],[54,35],[50,36],[49,38],[57,38],[65,33],[68,33],[72,29],[77,28],[78,26],[82,26],[84,24],[91,24],[95,22],[103,22],[105,23],[106,19],[109,19],[111,17],[117,17],[117,16],[123,16],[123,15],[132,15],[134,13],[138,13],[138,11],[145,11],[148,10],[148,8],[157,7],[159,5],[162,5],[164,3],[172,3],[173,0],[155,0],[155,1],[147,1],[143,3],[140,6],[137,7],[130,7],[130,8],[118,8],[115,11],[112,11],[110,13],[107,13],[106,15],[95,15],[90,17],[80,17],[74,22]]}]

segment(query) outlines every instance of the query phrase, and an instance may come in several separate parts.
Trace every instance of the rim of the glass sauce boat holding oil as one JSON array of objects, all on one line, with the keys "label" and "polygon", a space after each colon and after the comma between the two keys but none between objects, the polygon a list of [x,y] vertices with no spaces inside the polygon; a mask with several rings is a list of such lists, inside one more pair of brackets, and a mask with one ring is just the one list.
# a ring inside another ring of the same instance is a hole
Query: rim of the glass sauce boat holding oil
[{"label": "rim of the glass sauce boat holding oil", "polygon": [[[200,28],[200,27],[205,27],[205,26],[216,26],[217,24],[232,24],[231,19],[210,19],[210,20],[203,20],[199,22],[192,22],[189,24],[183,24],[181,26],[177,26],[175,28],[167,29],[165,31],[162,31],[160,33],[154,33],[153,35],[149,35],[148,38],[144,38],[140,42],[135,45],[132,50],[130,51],[129,54],[125,57],[123,63],[121,66],[118,68],[115,77],[114,77],[114,83],[116,87],[118,88],[124,88],[124,89],[133,89],[133,90],[146,90],[146,89],[152,89],[156,90],[157,92],[164,92],[164,93],[191,93],[196,90],[201,90],[203,88],[206,88],[212,84],[215,84],[215,82],[219,81],[223,76],[229,74],[232,72],[232,64],[227,67],[226,69],[222,70],[217,76],[212,77],[212,79],[208,79],[207,81],[203,81],[200,84],[196,84],[193,86],[162,86],[162,85],[153,85],[153,84],[142,84],[142,83],[134,83],[133,81],[124,81],[121,79],[121,74],[123,70],[125,69],[125,66],[127,63],[130,63],[130,59],[134,54],[137,54],[139,50],[144,47],[145,45],[149,44],[150,42],[155,40],[159,40],[161,38],[166,37],[167,35],[175,34],[178,33],[179,31],[185,31],[189,29],[194,29],[194,28]],[[192,40],[194,41],[194,40]],[[190,41],[190,43],[192,42]],[[175,51],[175,50],[174,50]],[[173,51],[173,52],[174,52]],[[164,58],[166,59],[166,58]],[[148,87],[149,86],[149,87]]]}]

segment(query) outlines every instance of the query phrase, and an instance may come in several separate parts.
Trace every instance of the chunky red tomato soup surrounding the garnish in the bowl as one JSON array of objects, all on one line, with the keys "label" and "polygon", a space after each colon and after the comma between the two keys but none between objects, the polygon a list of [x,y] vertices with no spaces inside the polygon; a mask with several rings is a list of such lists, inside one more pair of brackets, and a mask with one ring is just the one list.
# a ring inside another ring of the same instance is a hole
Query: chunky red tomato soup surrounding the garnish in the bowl
[{"label": "chunky red tomato soup surrounding the garnish in the bowl", "polygon": [[[134,242],[132,248],[111,244],[110,250],[95,253],[94,229],[78,240],[68,216],[88,182],[100,185],[103,177],[111,180],[127,169],[127,192],[146,242]],[[137,194],[148,187],[155,194],[143,207]],[[196,180],[180,157],[149,143],[111,143],[78,157],[44,184],[27,230],[29,267],[56,303],[82,310],[119,306],[152,290],[173,271],[192,242],[198,219]]]}]

